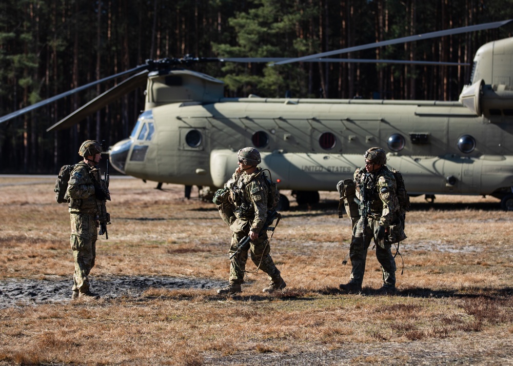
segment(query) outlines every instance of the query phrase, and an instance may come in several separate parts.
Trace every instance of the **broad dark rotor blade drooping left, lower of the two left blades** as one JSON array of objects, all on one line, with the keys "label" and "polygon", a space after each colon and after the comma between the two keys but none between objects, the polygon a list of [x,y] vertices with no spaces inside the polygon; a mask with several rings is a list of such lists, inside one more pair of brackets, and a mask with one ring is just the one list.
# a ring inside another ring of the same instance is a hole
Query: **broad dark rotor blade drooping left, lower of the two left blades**
[{"label": "broad dark rotor blade drooping left, lower of the two left blades", "polygon": [[121,96],[131,92],[135,88],[144,87],[148,78],[148,70],[144,70],[139,74],[135,74],[128,79],[124,80],[115,87],[110,88],[106,92],[98,95],[96,98],[90,100],[87,104],[78,108],[76,111],[67,117],[58,121],[55,125],[48,128],[46,131],[63,130],[65,128],[76,125],[83,119],[87,118],[96,111],[102,109],[112,101],[119,99]]}]

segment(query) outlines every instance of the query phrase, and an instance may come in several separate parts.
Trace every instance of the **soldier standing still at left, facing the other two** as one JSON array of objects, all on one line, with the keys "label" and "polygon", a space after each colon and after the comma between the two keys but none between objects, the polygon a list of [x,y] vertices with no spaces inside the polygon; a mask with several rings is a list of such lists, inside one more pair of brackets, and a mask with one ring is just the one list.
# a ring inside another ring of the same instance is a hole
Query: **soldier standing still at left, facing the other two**
[{"label": "soldier standing still at left, facing the other two", "polygon": [[78,149],[78,155],[83,159],[71,171],[66,190],[71,220],[70,244],[75,260],[72,299],[100,298],[90,291],[88,275],[96,257],[96,228],[110,223],[105,210],[110,194],[100,169],[96,167],[102,159],[102,150],[98,141],[84,141]]}]

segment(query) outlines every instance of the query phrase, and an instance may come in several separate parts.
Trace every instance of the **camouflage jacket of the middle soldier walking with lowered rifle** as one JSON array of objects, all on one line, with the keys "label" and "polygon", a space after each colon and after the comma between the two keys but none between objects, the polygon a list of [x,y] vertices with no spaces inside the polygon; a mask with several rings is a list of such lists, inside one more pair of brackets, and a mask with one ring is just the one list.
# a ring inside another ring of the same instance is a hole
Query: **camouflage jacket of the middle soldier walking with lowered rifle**
[{"label": "camouflage jacket of the middle soldier walking with lowered rifle", "polygon": [[267,219],[268,188],[262,168],[257,167],[252,174],[234,173],[234,184],[231,186],[230,199],[235,206],[235,217],[250,221],[251,230],[260,232]]}]

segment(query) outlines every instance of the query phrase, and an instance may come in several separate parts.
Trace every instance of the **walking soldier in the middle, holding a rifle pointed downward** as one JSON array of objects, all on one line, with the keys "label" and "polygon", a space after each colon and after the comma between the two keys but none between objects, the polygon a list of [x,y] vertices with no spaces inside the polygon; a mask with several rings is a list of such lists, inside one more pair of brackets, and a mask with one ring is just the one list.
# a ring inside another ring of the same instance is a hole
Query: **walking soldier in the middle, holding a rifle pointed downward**
[{"label": "walking soldier in the middle, holding a rifle pointed downward", "polygon": [[[249,236],[251,260],[258,269],[267,273],[270,281],[269,287],[264,288],[263,292],[284,289],[287,285],[269,254],[270,246],[264,227],[268,212],[268,186],[265,180],[267,178],[258,166],[261,162],[260,152],[247,147],[239,150],[237,157],[239,167],[225,185],[225,196],[230,208],[225,207],[223,210],[224,215],[229,216],[223,219],[232,231],[230,253],[235,253],[239,242]],[[219,294],[242,291],[247,260],[248,250],[241,250],[231,258],[229,284],[228,287],[219,289]]]}]

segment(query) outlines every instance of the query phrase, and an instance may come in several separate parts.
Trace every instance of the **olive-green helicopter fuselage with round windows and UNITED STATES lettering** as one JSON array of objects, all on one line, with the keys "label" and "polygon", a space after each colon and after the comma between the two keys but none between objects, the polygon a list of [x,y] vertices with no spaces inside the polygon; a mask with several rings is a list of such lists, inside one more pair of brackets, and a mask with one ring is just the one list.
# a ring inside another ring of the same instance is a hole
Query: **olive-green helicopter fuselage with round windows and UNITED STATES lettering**
[{"label": "olive-green helicopter fuselage with round windows and UNITED STATES lettering", "polygon": [[255,146],[281,189],[335,190],[363,165],[365,150],[380,146],[411,194],[484,195],[513,185],[513,116],[478,117],[459,102],[250,97],[167,104],[142,116],[111,151],[117,170],[142,179],[220,187],[236,152]]}]

